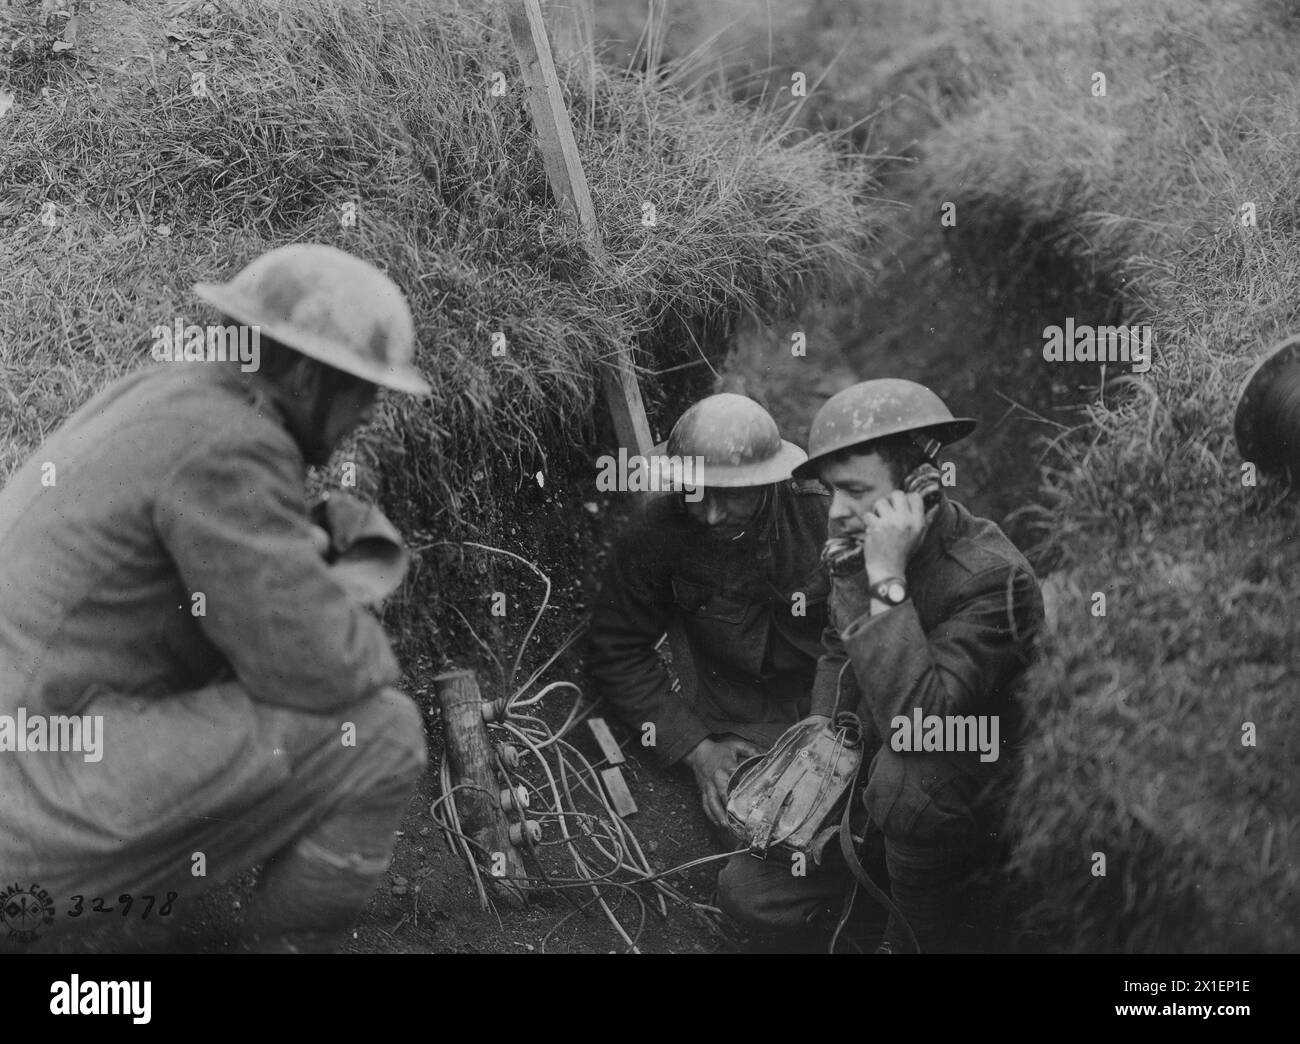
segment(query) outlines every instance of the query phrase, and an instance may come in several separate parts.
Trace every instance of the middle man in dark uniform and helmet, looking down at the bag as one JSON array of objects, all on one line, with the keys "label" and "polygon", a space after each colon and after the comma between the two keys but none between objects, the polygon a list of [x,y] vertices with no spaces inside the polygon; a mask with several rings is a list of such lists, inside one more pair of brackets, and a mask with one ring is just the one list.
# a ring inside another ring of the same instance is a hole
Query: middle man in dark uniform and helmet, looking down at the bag
[{"label": "middle man in dark uniform and helmet, looking down at the bag", "polygon": [[[646,495],[611,553],[588,664],[638,736],[653,736],[666,762],[690,766],[722,828],[734,767],[809,714],[828,498],[818,482],[790,478],[803,451],[744,395],[696,403],[654,454],[696,458],[703,497]],[[682,696],[655,653],[666,632],[677,638]]]}]

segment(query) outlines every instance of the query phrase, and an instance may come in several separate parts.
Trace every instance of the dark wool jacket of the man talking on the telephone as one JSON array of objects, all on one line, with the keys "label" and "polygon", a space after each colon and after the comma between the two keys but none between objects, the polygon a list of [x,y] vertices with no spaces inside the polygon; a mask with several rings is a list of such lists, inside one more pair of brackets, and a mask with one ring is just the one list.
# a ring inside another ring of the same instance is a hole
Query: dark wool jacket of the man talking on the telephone
[{"label": "dark wool jacket of the man talking on the telephone", "polygon": [[905,580],[907,601],[875,616],[864,573],[835,581],[812,712],[855,711],[885,744],[915,709],[997,714],[1014,737],[1014,689],[1043,623],[1028,562],[994,523],[944,498]]}]

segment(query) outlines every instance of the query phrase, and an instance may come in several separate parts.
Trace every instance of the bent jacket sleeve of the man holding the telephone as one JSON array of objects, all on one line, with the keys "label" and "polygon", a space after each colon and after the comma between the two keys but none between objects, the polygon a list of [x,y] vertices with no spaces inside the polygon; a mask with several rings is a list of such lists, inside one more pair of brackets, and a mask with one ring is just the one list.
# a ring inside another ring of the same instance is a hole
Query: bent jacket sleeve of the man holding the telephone
[{"label": "bent jacket sleeve of the man holding the telephone", "polygon": [[971,576],[930,634],[910,599],[863,612],[838,636],[862,692],[859,714],[887,737],[890,722],[916,707],[940,716],[987,712],[1024,667],[1041,619],[1037,581],[1010,564]]}]

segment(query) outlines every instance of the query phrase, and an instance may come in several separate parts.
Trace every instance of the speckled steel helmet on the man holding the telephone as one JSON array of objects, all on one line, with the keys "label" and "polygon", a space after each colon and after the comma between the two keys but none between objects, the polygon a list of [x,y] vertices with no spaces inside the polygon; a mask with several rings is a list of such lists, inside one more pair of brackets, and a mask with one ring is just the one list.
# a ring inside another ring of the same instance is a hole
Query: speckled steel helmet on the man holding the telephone
[{"label": "speckled steel helmet on the man holding the telephone", "polygon": [[927,456],[975,429],[970,417],[952,411],[924,385],[896,377],[862,381],[822,406],[809,430],[809,458],[796,478],[816,478],[820,465],[840,450],[887,436],[911,434]]}]

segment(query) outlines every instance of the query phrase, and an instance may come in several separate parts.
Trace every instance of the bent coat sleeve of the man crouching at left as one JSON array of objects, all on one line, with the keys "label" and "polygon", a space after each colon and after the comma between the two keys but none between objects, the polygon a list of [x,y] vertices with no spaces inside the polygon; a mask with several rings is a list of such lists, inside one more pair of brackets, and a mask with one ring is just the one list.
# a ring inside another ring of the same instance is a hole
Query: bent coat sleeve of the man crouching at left
[{"label": "bent coat sleeve of the man crouching at left", "polygon": [[200,628],[254,699],[326,712],[396,683],[378,620],[312,543],[287,443],[237,433],[195,449],[160,490],[155,525],[191,595],[203,594]]}]

